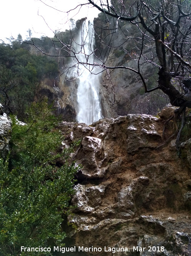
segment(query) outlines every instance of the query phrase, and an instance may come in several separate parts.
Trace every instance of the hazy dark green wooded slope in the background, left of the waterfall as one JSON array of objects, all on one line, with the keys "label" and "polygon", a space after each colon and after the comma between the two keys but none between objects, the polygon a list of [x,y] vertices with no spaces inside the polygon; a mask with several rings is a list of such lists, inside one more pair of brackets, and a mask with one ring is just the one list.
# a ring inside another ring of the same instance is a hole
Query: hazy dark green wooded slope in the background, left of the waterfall
[{"label": "hazy dark green wooded slope in the background, left of the waterfall", "polygon": [[6,113],[24,120],[26,108],[39,94],[40,81],[56,76],[55,59],[31,53],[25,43],[16,40],[0,44],[0,102]]}]

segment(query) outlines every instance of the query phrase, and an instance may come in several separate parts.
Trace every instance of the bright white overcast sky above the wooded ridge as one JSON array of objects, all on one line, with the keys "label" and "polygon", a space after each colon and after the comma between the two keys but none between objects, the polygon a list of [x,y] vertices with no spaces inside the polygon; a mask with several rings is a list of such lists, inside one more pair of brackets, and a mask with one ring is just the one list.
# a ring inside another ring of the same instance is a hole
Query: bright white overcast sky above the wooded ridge
[{"label": "bright white overcast sky above the wooded ridge", "polygon": [[[50,28],[60,31],[65,31],[69,27],[65,24],[67,20],[67,12],[71,8],[76,7],[79,3],[86,3],[87,0],[42,0],[45,4],[54,7],[62,12],[54,10],[46,6],[39,0],[3,0],[0,4],[0,40],[6,41],[5,38],[10,38],[11,35],[17,38],[20,33],[23,39],[27,36],[27,30],[30,28],[33,37],[43,35],[53,36]],[[79,10],[79,9],[78,9]],[[74,10],[70,13],[69,18],[78,20],[87,17],[93,20],[97,17],[96,8],[87,8],[83,6],[78,13]],[[41,15],[40,17],[38,15]],[[76,16],[74,16],[78,13]],[[45,21],[46,23],[45,23]],[[48,26],[50,28],[48,28]],[[36,33],[35,33],[36,32]],[[1,41],[0,41],[1,42]]]}]

